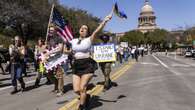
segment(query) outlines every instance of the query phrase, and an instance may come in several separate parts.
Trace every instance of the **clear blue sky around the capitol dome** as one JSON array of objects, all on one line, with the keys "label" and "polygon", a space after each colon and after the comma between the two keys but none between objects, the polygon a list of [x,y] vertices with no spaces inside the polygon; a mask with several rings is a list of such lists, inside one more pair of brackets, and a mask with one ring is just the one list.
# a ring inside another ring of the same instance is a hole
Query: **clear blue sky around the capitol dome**
[{"label": "clear blue sky around the capitol dome", "polygon": [[[103,19],[112,10],[115,1],[128,19],[113,16],[105,30],[120,33],[137,28],[138,17],[145,0],[59,0],[64,6],[86,10]],[[195,0],[149,0],[157,17],[159,28],[171,30],[195,26]]]}]

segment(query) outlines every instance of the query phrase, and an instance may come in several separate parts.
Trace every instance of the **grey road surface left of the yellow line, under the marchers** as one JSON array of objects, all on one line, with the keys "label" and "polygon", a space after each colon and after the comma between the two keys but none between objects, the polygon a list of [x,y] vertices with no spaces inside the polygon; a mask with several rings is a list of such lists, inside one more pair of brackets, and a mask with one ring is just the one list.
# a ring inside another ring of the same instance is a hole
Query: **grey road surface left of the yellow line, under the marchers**
[{"label": "grey road surface left of the yellow line, under the marchers", "polygon": [[[116,64],[113,67],[113,72],[117,71],[121,64]],[[15,95],[10,95],[12,90],[10,86],[10,76],[1,75],[0,81],[0,110],[58,110],[66,103],[70,102],[76,97],[72,90],[72,76],[71,74],[65,76],[65,94],[62,97],[57,97],[52,93],[53,85],[45,85],[45,79],[41,81],[42,86],[33,88],[36,73],[29,73],[28,77],[24,80],[27,83],[27,91],[18,92]],[[100,70],[96,71],[93,80],[91,81],[90,88],[94,87],[97,83],[103,81],[103,75]]]}]

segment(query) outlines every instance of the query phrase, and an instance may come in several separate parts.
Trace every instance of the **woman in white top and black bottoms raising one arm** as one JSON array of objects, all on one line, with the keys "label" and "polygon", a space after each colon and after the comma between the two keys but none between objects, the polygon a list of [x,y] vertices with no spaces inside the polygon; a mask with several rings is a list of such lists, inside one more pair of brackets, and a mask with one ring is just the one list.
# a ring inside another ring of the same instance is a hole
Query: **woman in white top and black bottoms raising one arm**
[{"label": "woman in white top and black bottoms raising one arm", "polygon": [[[90,58],[90,48],[96,38],[96,34],[111,20],[112,13],[105,17],[103,22],[97,29],[88,35],[88,26],[82,25],[79,30],[79,38],[71,41],[72,50],[74,53],[73,64],[73,89],[75,93],[80,95],[79,110],[85,110],[88,106],[90,95],[87,95],[87,86],[93,76],[96,68],[96,62]],[[89,37],[87,37],[89,36]]]}]

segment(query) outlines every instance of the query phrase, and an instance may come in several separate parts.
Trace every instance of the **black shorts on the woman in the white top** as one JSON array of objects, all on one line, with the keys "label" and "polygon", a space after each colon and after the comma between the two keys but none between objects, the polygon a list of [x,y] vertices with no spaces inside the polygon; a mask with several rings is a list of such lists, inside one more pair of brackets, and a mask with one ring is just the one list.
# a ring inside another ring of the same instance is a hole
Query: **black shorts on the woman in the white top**
[{"label": "black shorts on the woman in the white top", "polygon": [[93,74],[98,69],[96,61],[92,58],[76,59],[73,63],[73,74]]}]

